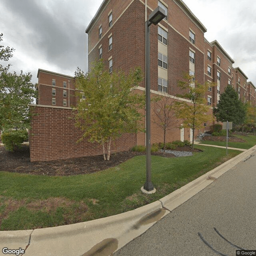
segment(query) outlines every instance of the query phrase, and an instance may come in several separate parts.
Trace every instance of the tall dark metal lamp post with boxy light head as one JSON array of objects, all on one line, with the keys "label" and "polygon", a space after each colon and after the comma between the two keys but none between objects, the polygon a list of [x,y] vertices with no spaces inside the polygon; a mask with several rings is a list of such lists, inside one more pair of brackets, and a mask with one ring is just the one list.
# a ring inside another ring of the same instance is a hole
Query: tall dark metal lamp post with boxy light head
[{"label": "tall dark metal lamp post with boxy light head", "polygon": [[146,182],[142,192],[152,192],[154,186],[151,182],[151,150],[150,150],[150,25],[157,25],[166,17],[164,9],[158,6],[145,22],[145,55],[146,55]]}]

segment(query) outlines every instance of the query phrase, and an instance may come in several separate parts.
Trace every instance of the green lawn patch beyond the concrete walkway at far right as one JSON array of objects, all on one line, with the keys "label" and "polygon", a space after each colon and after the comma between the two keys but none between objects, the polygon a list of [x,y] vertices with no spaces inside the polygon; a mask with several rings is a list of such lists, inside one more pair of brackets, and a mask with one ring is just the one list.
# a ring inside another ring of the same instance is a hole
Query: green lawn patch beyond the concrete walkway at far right
[{"label": "green lawn patch beyond the concrete walkway at far right", "polygon": [[[233,134],[232,134],[233,135]],[[244,148],[249,149],[256,145],[256,135],[248,135],[248,136],[242,136],[242,135],[234,135],[237,138],[241,138],[245,140],[246,142],[228,142],[228,147],[230,148]],[[209,145],[217,145],[217,146],[225,146],[226,147],[226,141],[202,141],[202,144],[209,144]]]}]

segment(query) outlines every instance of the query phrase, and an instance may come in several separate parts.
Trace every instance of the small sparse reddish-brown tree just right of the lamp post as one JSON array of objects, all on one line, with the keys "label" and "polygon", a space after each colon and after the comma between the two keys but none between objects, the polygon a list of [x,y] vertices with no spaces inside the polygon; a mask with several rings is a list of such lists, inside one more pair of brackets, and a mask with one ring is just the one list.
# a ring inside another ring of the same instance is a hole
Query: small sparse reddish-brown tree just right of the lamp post
[{"label": "small sparse reddish-brown tree just right of the lamp post", "polygon": [[152,102],[152,121],[164,131],[164,152],[166,144],[166,130],[177,127],[177,119],[174,112],[174,99],[168,94],[163,97],[156,97]]}]

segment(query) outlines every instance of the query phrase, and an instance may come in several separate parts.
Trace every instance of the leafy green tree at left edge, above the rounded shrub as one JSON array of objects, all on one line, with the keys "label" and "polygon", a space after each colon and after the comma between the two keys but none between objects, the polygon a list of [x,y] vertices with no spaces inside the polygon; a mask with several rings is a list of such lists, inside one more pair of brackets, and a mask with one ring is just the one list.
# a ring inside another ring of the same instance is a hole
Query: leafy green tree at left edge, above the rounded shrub
[{"label": "leafy green tree at left edge, above the rounded shrub", "polygon": [[[2,41],[3,34],[0,34]],[[0,46],[0,60],[8,61],[13,48]],[[29,104],[36,97],[30,73],[9,72],[10,64],[0,64],[0,130],[30,128]]]}]

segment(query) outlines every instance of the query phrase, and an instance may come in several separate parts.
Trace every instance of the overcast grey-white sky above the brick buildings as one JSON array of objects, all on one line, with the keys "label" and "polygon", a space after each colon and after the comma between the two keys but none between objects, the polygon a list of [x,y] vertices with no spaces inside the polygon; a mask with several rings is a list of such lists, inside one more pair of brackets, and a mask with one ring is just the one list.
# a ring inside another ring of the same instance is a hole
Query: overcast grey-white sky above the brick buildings
[{"label": "overcast grey-white sky above the brick buildings", "polygon": [[[87,71],[86,27],[103,0],[0,0],[2,44],[15,48],[12,71],[38,68],[74,76]],[[256,86],[256,1],[184,0],[207,28],[205,38],[217,40]]]}]

